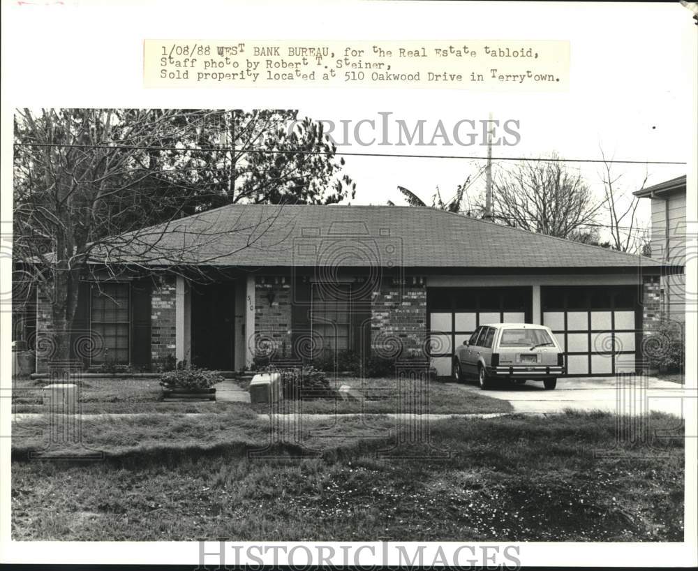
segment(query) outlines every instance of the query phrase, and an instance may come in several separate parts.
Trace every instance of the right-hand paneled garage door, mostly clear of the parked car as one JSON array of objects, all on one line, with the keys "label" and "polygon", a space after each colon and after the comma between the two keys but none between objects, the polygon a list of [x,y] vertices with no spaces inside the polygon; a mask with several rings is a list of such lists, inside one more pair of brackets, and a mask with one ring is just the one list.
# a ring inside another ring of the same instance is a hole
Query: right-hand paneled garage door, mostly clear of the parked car
[{"label": "right-hand paneled garage door, mostly clear of the parked car", "polygon": [[635,370],[641,310],[634,286],[543,287],[543,325],[563,346],[567,374],[612,375]]}]

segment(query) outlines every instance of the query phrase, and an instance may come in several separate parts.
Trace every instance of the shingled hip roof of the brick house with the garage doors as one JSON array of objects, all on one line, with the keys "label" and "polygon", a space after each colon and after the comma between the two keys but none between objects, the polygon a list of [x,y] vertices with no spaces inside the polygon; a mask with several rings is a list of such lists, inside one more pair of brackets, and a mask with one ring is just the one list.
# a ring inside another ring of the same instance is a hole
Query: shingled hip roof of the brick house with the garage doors
[{"label": "shingled hip roof of the brick house with the garage doors", "polygon": [[660,268],[428,207],[228,205],[117,237],[98,258],[238,267]]}]

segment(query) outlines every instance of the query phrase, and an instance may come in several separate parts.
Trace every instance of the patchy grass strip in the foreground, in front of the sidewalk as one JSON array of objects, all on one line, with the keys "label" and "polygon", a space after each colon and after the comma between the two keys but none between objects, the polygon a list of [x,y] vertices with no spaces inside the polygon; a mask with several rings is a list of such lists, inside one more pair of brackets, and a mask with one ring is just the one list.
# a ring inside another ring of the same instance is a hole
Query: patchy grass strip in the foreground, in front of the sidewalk
[{"label": "patchy grass strip in the foreground, in front of the sidewalk", "polygon": [[617,443],[603,413],[452,418],[431,446],[397,444],[380,416],[288,428],[299,442],[251,457],[270,433],[249,409],[105,418],[84,430],[100,462],[20,460],[40,439],[15,435],[13,539],[683,540],[681,432]]}]

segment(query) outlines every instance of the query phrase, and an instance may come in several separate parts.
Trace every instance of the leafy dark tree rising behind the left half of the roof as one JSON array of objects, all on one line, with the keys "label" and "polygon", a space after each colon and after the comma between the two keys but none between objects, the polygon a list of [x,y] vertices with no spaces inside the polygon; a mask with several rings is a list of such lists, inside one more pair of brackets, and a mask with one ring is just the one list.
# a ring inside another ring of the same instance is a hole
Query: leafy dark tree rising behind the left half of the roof
[{"label": "leafy dark tree rising behind the left half of the roof", "polygon": [[[165,186],[187,188],[188,214],[227,204],[318,204],[353,198],[356,184],[339,177],[344,159],[322,123],[295,110],[189,111],[177,117],[185,136],[160,152]],[[161,182],[161,175],[155,181]]]}]

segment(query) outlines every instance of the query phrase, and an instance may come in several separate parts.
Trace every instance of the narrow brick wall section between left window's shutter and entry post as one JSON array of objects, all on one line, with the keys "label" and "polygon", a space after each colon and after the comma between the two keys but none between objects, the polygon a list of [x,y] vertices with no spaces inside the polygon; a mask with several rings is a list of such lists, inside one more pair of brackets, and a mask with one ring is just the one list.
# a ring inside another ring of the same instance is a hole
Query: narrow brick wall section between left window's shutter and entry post
[{"label": "narrow brick wall section between left window's shutter and entry post", "polygon": [[177,281],[174,276],[160,276],[151,296],[150,353],[154,368],[174,359],[176,342]]}]

